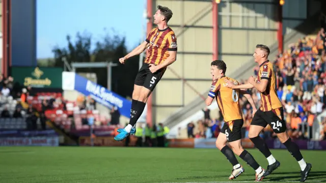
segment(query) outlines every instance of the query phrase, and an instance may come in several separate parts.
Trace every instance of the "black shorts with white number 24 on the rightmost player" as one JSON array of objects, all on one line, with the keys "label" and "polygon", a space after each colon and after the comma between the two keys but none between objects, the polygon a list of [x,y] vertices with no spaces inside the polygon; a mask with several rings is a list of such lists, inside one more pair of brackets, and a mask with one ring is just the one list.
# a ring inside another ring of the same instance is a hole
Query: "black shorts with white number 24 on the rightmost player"
[{"label": "black shorts with white number 24 on the rightmost player", "polygon": [[276,134],[286,132],[283,107],[265,112],[258,109],[250,125],[266,127],[267,124],[270,125]]}]

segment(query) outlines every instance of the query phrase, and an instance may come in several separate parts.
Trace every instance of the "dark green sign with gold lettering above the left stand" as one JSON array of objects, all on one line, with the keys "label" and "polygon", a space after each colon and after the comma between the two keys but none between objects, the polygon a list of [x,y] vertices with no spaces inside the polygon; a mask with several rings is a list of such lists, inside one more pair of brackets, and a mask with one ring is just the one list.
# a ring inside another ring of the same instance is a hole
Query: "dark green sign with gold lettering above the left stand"
[{"label": "dark green sign with gold lettering above the left stand", "polygon": [[11,67],[14,81],[35,88],[61,88],[62,72],[58,67]]}]

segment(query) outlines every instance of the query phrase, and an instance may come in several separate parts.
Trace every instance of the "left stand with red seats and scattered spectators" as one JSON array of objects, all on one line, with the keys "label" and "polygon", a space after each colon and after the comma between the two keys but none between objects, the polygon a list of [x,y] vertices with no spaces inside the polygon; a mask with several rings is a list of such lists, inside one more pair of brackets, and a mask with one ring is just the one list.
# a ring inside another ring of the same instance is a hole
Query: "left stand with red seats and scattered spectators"
[{"label": "left stand with red seats and scattered spectators", "polygon": [[66,101],[60,92],[33,93],[30,87],[20,92],[13,88],[13,77],[3,79],[0,89],[0,129],[46,129],[45,121],[50,120],[69,132],[71,129],[89,130],[85,119],[90,117],[94,117],[96,127],[105,128],[110,122],[99,115],[90,97],[80,95],[76,101]]}]

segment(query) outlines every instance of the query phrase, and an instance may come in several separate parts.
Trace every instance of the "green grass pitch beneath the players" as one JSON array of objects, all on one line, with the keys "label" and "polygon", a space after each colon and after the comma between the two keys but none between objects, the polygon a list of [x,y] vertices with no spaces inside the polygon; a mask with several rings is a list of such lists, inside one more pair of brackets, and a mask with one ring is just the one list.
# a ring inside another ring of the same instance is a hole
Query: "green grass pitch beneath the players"
[{"label": "green grass pitch beneath the players", "polygon": [[[249,150],[267,168],[257,149]],[[273,150],[281,166],[263,182],[298,182],[300,167],[287,150]],[[302,151],[312,171],[306,182],[326,182],[326,151]],[[237,157],[238,158],[238,157]],[[229,180],[232,166],[218,149],[135,147],[0,147],[1,183],[253,182],[255,171]]]}]

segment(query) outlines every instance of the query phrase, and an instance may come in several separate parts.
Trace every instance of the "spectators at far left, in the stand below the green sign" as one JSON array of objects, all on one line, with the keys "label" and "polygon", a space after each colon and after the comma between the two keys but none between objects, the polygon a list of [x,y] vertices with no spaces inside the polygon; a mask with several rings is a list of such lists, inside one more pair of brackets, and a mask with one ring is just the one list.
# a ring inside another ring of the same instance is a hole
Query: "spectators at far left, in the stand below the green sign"
[{"label": "spectators at far left, in the stand below the green sign", "polygon": [[[29,98],[33,98],[37,93],[31,86],[22,87],[15,82],[12,76],[7,78],[0,75],[0,113],[1,123],[9,119],[11,124],[0,124],[0,128],[12,129],[21,128],[28,130],[46,129],[44,112],[48,109],[55,109],[60,105],[65,106],[61,97],[55,95],[43,96],[42,103],[37,108]],[[19,125],[19,122],[23,124]],[[17,125],[13,125],[17,123]],[[6,126],[7,125],[7,126]]]}]

